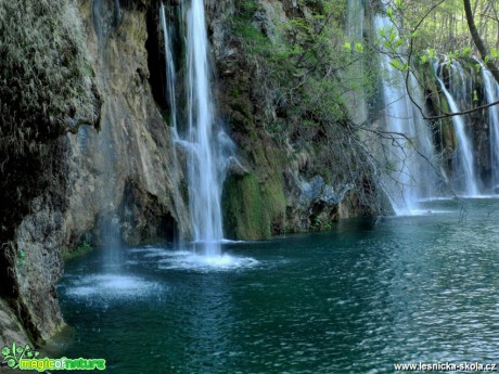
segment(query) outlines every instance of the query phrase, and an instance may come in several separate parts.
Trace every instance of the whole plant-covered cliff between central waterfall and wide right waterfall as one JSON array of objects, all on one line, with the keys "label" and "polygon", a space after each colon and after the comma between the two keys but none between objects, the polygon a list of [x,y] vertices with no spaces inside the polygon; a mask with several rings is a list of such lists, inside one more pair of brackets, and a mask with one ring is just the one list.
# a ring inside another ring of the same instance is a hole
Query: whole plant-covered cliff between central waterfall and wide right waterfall
[{"label": "whole plant-covered cliff between central waterfall and wide right waterfall", "polygon": [[[383,210],[374,160],[348,108],[351,95],[374,93],[375,79],[358,72],[347,77],[370,50],[359,42],[345,48],[346,9],[346,1],[245,1],[235,3],[230,20],[230,55],[219,67],[221,109],[259,195],[265,199],[268,186],[285,193],[281,214],[270,218],[273,234],[315,230],[317,221],[327,227],[340,218],[338,202],[297,207],[302,184],[316,176],[336,192],[354,186],[343,204],[355,199],[350,208],[357,214]],[[247,189],[247,180],[240,183]],[[264,217],[269,206],[263,206]]]}]

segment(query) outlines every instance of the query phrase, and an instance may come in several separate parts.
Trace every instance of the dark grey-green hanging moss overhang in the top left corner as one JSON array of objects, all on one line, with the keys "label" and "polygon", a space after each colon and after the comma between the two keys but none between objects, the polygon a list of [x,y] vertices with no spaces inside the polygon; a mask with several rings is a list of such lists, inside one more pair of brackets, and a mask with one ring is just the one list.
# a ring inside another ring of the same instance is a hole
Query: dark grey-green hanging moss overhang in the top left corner
[{"label": "dark grey-green hanging moss overhang in the top left corner", "polygon": [[98,99],[73,1],[0,2],[0,151],[35,151],[81,121]]}]

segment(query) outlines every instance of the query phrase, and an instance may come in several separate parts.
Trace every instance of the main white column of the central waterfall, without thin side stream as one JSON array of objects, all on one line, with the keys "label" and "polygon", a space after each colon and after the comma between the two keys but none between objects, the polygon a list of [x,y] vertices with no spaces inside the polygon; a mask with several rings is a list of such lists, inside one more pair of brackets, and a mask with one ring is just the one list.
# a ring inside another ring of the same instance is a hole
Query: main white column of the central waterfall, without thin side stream
[{"label": "main white column of the central waterfall, without thin side stream", "polygon": [[188,159],[189,208],[196,242],[206,255],[220,254],[223,237],[214,112],[209,87],[208,37],[203,0],[192,0],[188,11]]}]

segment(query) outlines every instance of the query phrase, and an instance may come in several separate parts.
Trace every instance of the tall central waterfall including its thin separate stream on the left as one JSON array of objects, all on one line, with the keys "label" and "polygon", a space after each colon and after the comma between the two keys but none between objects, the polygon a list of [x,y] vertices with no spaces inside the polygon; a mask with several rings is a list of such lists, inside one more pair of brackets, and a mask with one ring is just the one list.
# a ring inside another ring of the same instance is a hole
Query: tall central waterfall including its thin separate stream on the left
[{"label": "tall central waterfall including its thin separate stream on the left", "polygon": [[[221,252],[222,217],[221,186],[230,163],[233,143],[216,121],[214,92],[210,87],[212,68],[203,0],[184,0],[181,4],[180,29],[185,30],[185,108],[177,107],[176,66],[171,35],[161,7],[161,22],[165,39],[167,87],[171,125],[176,142],[183,147],[187,163],[189,210],[195,249],[207,256]],[[185,113],[183,117],[179,113]]]}]

